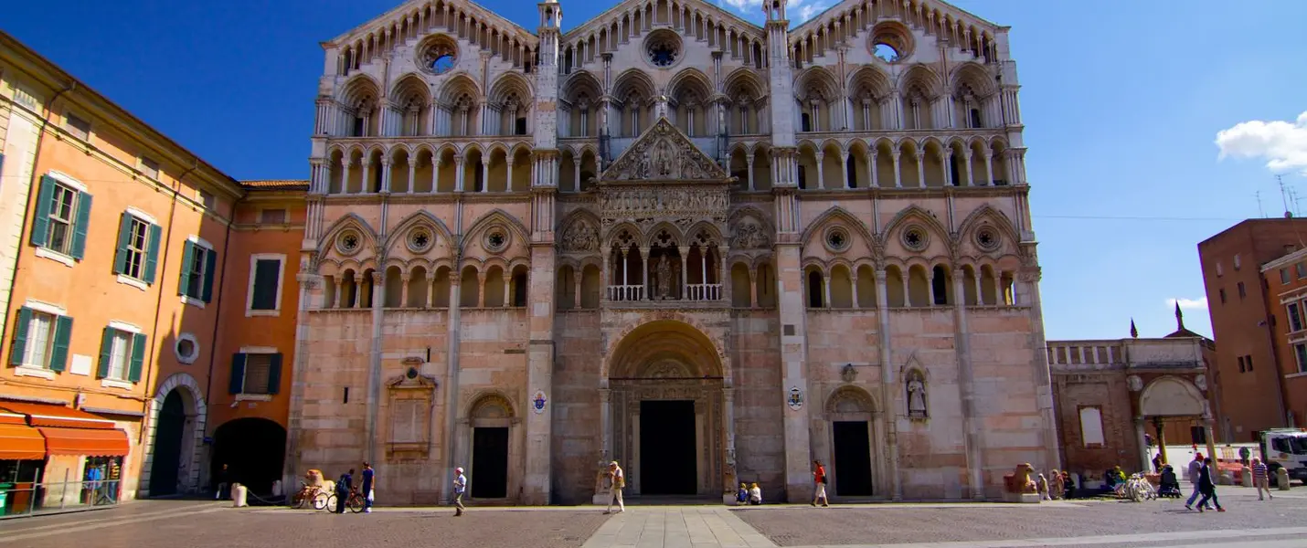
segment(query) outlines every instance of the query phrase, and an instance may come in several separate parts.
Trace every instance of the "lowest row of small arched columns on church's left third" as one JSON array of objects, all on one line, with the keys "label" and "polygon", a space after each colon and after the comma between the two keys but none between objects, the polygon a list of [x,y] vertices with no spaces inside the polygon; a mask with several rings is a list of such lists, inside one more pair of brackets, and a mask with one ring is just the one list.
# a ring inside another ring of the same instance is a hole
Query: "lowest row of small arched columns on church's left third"
[{"label": "lowest row of small arched columns on church's left third", "polygon": [[[478,269],[464,266],[451,277],[447,266],[408,270],[389,266],[384,274],[374,269],[346,269],[323,277],[324,309],[448,308],[457,299],[461,308],[523,308],[527,305],[528,267],[498,265]],[[455,291],[451,291],[451,287]],[[380,300],[378,300],[380,299]]]}]

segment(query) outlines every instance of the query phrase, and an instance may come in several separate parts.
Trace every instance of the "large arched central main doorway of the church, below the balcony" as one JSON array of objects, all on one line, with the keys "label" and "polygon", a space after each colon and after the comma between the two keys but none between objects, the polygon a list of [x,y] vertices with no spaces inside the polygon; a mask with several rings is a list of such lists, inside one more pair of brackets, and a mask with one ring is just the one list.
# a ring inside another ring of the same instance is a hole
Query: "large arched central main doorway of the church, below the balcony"
[{"label": "large arched central main doorway of the church, below the balcony", "polygon": [[605,448],[631,495],[720,496],[728,425],[723,365],[698,329],[644,324],[609,359]]}]

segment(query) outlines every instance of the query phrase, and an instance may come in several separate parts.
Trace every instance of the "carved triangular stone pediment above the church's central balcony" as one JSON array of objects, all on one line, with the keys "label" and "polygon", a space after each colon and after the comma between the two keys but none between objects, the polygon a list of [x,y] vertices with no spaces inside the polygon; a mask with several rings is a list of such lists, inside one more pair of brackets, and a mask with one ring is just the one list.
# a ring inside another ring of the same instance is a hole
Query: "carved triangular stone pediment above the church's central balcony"
[{"label": "carved triangular stone pediment above the church's central balcony", "polygon": [[652,128],[604,170],[600,181],[724,183],[729,177],[685,133],[665,117],[659,117]]}]

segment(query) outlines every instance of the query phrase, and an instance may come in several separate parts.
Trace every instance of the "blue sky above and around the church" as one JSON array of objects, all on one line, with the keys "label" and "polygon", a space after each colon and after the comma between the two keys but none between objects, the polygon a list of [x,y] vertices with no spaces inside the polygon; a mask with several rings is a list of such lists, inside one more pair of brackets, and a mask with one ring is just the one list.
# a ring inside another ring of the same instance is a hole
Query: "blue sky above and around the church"
[{"label": "blue sky above and around the church", "polygon": [[[759,0],[716,3],[762,16]],[[831,4],[792,0],[791,17]],[[1282,214],[1273,174],[1307,206],[1307,3],[954,4],[1012,26],[1048,338],[1127,337],[1131,318],[1163,335],[1171,299],[1210,334],[1197,243]],[[319,42],[395,5],[14,3],[0,29],[238,179],[307,177]],[[482,5],[537,21],[535,1]],[[562,5],[571,27],[613,3]]]}]

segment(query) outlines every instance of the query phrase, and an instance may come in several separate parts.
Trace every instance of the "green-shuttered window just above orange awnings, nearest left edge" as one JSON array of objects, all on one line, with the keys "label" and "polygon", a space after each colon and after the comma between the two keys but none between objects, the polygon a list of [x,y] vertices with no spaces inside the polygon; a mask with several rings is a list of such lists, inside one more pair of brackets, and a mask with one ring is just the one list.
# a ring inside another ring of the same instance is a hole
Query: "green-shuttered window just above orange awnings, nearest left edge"
[{"label": "green-shuttered window just above orange awnings, nearest left edge", "polygon": [[64,371],[73,318],[58,312],[61,309],[35,301],[29,301],[29,305],[17,311],[10,365],[26,372],[41,372],[38,376],[47,378],[52,378],[51,372]]}]

